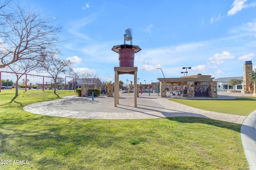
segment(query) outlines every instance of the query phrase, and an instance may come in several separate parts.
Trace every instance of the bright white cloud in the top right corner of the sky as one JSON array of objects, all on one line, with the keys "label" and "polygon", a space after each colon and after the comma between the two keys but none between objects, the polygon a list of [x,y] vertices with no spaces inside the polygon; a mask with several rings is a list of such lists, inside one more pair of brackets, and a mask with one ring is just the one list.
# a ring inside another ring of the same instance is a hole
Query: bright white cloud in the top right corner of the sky
[{"label": "bright white cloud in the top right corner of the sky", "polygon": [[250,4],[245,4],[247,0],[234,0],[233,4],[231,5],[231,10],[228,11],[228,16],[232,16],[236,14],[237,12],[241,11],[243,8],[249,8],[256,6],[255,2],[252,2]]}]

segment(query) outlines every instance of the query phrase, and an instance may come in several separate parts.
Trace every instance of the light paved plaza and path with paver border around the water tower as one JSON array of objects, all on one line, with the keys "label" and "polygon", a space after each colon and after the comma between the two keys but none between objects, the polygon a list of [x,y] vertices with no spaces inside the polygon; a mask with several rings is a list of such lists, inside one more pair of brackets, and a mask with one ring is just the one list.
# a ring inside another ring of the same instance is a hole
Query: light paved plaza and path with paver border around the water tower
[{"label": "light paved plaza and path with paver border around the water tower", "polygon": [[[140,100],[142,100],[142,103],[140,103]],[[94,101],[92,101],[91,98],[68,96],[60,100],[30,104],[23,109],[41,115],[79,119],[153,119],[192,116],[242,124],[246,118],[246,116],[196,109],[172,102],[167,98],[138,98],[137,107],[132,106],[133,98],[120,98],[119,101],[118,107],[114,107],[114,98],[100,97],[94,98]],[[76,106],[77,103],[80,103],[81,106]],[[87,105],[87,107],[83,105]],[[92,109],[90,107],[94,107],[94,109],[92,111],[81,111],[84,109],[78,109],[78,107],[88,108],[89,110]]]}]

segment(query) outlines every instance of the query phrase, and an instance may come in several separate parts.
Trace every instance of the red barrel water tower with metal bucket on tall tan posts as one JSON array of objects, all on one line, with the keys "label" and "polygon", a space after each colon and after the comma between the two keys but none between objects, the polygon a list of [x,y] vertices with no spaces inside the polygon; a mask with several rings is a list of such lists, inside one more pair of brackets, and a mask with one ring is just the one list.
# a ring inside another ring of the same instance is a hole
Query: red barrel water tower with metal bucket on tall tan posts
[{"label": "red barrel water tower with metal bucket on tall tan posts", "polygon": [[[130,45],[126,44],[130,41]],[[133,74],[134,75],[134,107],[137,107],[137,71],[138,67],[134,67],[134,54],[141,49],[137,45],[132,45],[131,29],[126,29],[124,34],[124,44],[115,45],[113,51],[119,54],[119,67],[114,67],[115,71],[115,86],[114,86],[114,107],[119,104],[119,75],[120,74]]]}]

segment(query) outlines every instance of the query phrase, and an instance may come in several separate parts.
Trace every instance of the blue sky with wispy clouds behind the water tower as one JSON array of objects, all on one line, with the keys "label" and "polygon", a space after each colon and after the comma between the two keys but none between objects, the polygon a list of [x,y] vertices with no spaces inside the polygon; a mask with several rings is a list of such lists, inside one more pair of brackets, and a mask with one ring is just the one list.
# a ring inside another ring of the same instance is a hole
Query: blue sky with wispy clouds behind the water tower
[{"label": "blue sky with wispy clouds behind the water tower", "polygon": [[[80,73],[114,82],[119,66],[114,45],[132,29],[139,82],[201,73],[214,78],[243,76],[245,61],[256,68],[256,0],[20,0],[63,26],[62,59]],[[120,75],[120,80],[133,76]]]}]

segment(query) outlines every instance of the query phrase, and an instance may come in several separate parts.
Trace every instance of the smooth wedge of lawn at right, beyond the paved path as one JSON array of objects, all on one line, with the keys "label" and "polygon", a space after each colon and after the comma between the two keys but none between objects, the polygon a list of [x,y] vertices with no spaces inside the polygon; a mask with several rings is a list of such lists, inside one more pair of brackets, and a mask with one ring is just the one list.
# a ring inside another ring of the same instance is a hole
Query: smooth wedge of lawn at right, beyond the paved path
[{"label": "smooth wedge of lawn at right, beyond the paved path", "polygon": [[236,98],[234,100],[219,99],[169,99],[180,104],[195,107],[198,109],[227,113],[233,115],[248,116],[256,110],[256,100],[250,98]]}]

